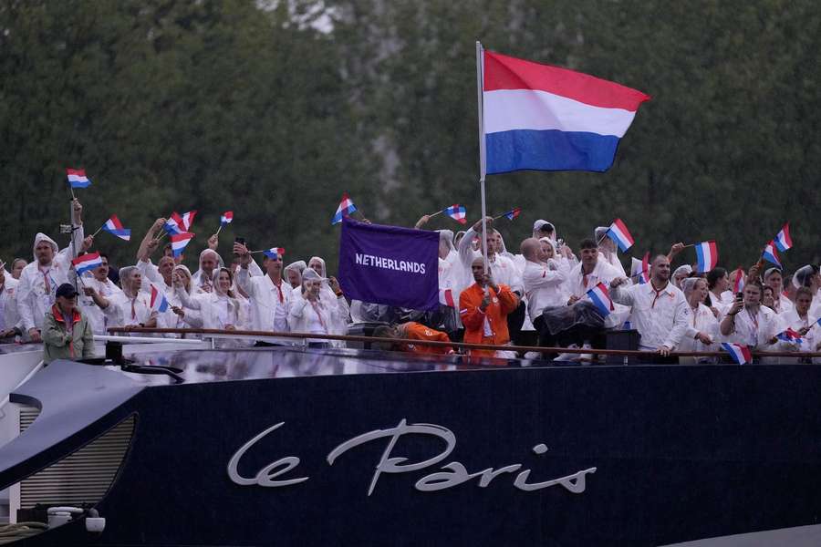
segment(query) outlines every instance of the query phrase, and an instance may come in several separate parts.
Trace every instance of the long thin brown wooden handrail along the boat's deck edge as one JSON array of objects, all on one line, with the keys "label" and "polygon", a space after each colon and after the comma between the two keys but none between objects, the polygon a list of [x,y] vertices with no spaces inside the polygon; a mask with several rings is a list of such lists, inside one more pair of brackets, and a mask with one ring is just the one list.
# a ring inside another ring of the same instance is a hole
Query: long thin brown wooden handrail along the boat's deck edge
[{"label": "long thin brown wooden handrail along the boat's deck edge", "polygon": [[[593,354],[604,356],[658,356],[655,351],[640,351],[629,349],[595,349],[595,348],[570,348],[570,347],[541,347],[541,346],[496,346],[492,344],[465,344],[463,342],[437,342],[433,340],[407,340],[404,338],[380,338],[375,336],[359,335],[317,335],[312,333],[277,333],[275,331],[255,331],[255,330],[222,330],[216,328],[150,328],[145,326],[132,327],[111,327],[109,333],[140,333],[140,334],[162,334],[162,335],[221,335],[231,337],[231,335],[261,336],[275,338],[298,338],[312,340],[341,340],[345,342],[384,342],[389,344],[413,344],[415,346],[434,347],[461,347],[463,349],[494,349],[515,352],[548,352],[548,353],[568,353],[568,354]],[[671,352],[672,357],[716,357],[728,356],[726,352],[718,351],[685,351]],[[753,356],[766,357],[821,357],[821,352],[753,352]]]}]

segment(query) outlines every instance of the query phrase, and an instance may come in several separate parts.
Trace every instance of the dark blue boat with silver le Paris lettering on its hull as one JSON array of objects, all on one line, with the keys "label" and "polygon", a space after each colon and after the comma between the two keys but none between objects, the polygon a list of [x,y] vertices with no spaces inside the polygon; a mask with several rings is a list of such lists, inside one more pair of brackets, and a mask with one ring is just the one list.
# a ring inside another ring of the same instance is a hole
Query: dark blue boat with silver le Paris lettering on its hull
[{"label": "dark blue boat with silver le Paris lettering on its hull", "polygon": [[9,396],[0,488],[71,469],[15,544],[821,544],[821,366],[107,353]]}]

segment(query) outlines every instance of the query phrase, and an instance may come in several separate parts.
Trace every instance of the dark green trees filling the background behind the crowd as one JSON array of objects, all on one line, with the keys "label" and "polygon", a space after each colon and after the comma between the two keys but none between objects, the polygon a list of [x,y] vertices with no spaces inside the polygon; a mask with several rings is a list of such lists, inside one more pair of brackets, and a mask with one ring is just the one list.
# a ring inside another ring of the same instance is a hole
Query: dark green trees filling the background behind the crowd
[{"label": "dark green trees filling the background behind the crowd", "polygon": [[224,255],[242,235],[333,267],[343,191],[374,222],[478,218],[481,38],[653,97],[607,173],[488,178],[489,212],[523,209],[508,247],[537,218],[575,243],[620,217],[636,255],[715,239],[735,267],[789,221],[793,270],[819,262],[819,36],[808,0],[0,0],[0,257],[59,239],[66,167],[93,181],[89,232],[132,229],[98,237],[120,265],[171,211],[200,212],[190,265],[233,210]]}]

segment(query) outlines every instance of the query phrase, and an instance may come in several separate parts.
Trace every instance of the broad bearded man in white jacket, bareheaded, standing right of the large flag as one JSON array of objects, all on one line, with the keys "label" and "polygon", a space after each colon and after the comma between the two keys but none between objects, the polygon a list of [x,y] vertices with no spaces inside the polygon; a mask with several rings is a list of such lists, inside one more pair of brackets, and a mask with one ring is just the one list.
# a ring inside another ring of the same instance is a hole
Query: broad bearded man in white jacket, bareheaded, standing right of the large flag
[{"label": "broad bearded man in white jacket, bareheaded, standing right of the large flag", "polygon": [[610,282],[613,302],[632,308],[631,322],[639,331],[639,349],[657,351],[652,362],[677,363],[670,352],[687,333],[690,304],[681,289],[670,283],[670,261],[660,254],[650,266],[650,283],[630,285],[626,277]]}]

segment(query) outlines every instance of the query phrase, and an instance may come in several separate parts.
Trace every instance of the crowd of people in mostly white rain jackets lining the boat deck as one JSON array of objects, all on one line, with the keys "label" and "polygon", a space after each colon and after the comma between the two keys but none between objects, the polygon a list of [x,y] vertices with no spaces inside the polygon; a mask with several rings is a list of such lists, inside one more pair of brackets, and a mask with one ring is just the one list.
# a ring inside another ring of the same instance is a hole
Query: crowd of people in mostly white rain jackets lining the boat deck
[{"label": "crowd of people in mostly white rain jackets lining the boat deck", "polygon": [[[821,349],[816,265],[792,275],[763,263],[741,274],[722,267],[698,273],[688,264],[673,271],[670,264],[684,248],[676,243],[652,258],[642,278],[642,272],[626,273],[607,227],[596,228],[574,250],[557,237],[551,222],[538,220],[519,253],[507,250],[490,217],[484,237],[481,220],[466,232],[440,230],[440,293],[451,300],[443,299],[437,312],[418,312],[348,300],[318,256],[286,265],[282,253],[273,253],[258,263],[237,241],[226,262],[217,235],[192,273],[184,254],[175,256],[171,244],[163,244],[164,218],[145,234],[134,263],[116,269],[95,238],[85,235],[77,200],[72,217],[66,248],[37,233],[32,262],[16,258],[0,264],[0,338],[43,341],[46,361],[91,355],[93,336],[114,326],[290,332],[305,334],[310,346],[338,346],[343,343],[326,336],[377,324],[372,334],[395,339],[390,345],[395,350],[448,354],[454,349],[447,344],[414,341],[464,341],[491,346],[466,352],[473,356],[512,357],[516,354],[505,346],[515,344],[551,348],[535,356],[573,361],[597,357],[553,348],[603,348],[608,332],[629,328],[638,330],[639,348],[653,352],[648,357],[653,362],[715,361],[670,354],[717,351],[722,342],[760,352],[795,351],[799,361],[806,360],[802,353]],[[429,220],[423,216],[416,228],[424,229]],[[92,251],[99,252],[101,264],[77,275],[72,259]],[[734,278],[738,275],[743,279]],[[743,291],[734,294],[731,287],[740,285]],[[609,312],[588,295],[600,286],[612,299]],[[158,305],[163,298],[168,305]],[[798,336],[779,336],[787,330]],[[292,341],[266,336],[257,344]]]}]

